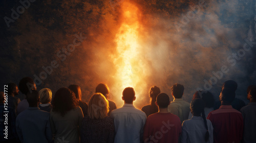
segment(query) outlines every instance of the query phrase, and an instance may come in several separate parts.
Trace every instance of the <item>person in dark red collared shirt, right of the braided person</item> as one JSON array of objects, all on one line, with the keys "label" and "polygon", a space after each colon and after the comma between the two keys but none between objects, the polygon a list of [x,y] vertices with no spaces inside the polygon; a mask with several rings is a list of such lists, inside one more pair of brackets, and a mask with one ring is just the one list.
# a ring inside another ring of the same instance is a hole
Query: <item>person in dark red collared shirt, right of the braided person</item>
[{"label": "person in dark red collared shirt, right of the braided person", "polygon": [[211,111],[207,119],[214,127],[214,143],[240,143],[243,138],[242,113],[231,106],[236,97],[235,91],[229,88],[222,89],[220,93],[221,106]]}]

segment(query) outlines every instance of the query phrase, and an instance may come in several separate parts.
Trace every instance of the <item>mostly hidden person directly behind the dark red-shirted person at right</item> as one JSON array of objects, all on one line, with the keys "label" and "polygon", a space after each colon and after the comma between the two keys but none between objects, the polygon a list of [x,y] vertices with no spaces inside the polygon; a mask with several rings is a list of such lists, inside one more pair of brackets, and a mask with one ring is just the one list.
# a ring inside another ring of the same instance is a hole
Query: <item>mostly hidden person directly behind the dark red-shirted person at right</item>
[{"label": "mostly hidden person directly behind the dark red-shirted person at right", "polygon": [[[236,91],[238,88],[238,84],[233,80],[228,80],[223,83],[221,90],[223,90],[224,88],[228,88],[230,90]],[[218,101],[215,105],[216,106],[215,109],[218,109],[220,105],[221,103]],[[240,111],[240,109],[245,106],[245,103],[243,100],[235,98],[231,105],[234,109],[237,109],[238,111]]]}]

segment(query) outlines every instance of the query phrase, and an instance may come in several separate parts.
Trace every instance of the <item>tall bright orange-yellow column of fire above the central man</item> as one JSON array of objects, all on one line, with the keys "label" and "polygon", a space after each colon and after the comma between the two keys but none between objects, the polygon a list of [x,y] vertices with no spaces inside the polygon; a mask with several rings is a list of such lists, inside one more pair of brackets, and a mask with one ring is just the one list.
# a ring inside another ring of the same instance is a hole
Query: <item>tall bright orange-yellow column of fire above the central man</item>
[{"label": "tall bright orange-yellow column of fire above the central man", "polygon": [[[122,5],[123,22],[116,34],[116,51],[112,56],[116,68],[116,84],[112,87],[112,91],[117,95],[122,94],[125,87],[133,87],[136,97],[140,96],[141,91],[145,89],[145,65],[140,59],[141,49],[143,48],[138,40],[141,25],[138,21],[139,9],[129,2]],[[142,82],[143,81],[143,82]],[[115,99],[117,104],[122,105],[120,96]],[[140,100],[140,98],[137,98]],[[138,102],[136,100],[136,102]],[[135,102],[135,104],[136,104]]]}]

